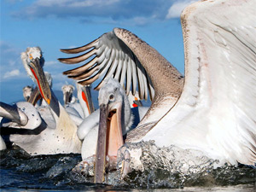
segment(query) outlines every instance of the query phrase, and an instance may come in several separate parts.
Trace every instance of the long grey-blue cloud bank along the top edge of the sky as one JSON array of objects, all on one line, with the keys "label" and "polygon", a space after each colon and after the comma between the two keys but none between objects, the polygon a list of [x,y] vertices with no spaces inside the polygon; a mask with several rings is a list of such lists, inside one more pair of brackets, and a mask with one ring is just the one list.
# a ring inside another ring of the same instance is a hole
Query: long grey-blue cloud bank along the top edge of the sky
[{"label": "long grey-blue cloud bank along the top edge of the sky", "polygon": [[[166,20],[175,0],[35,0],[12,13],[25,19],[78,18],[82,22],[131,23],[146,25]],[[179,1],[180,2],[180,1]]]}]

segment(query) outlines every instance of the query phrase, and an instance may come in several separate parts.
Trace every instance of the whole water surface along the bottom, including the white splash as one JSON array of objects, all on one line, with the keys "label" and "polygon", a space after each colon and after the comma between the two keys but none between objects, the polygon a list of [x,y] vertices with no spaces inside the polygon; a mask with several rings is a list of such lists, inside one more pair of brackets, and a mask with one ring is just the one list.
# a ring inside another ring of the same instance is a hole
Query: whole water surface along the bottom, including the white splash
[{"label": "whole water surface along the bottom, including the white splash", "polygon": [[[130,171],[121,179],[125,150],[131,153]],[[133,153],[133,154],[132,154]],[[139,158],[132,158],[137,153]],[[192,155],[194,156],[192,157]],[[178,157],[178,158],[177,158]],[[219,187],[245,184],[255,186],[256,170],[249,166],[214,168],[216,160],[175,146],[158,148],[152,142],[125,143],[119,150],[119,168],[108,172],[105,184],[73,172],[80,154],[30,156],[13,147],[0,153],[1,189],[163,189]],[[193,189],[195,190],[195,189]]]}]

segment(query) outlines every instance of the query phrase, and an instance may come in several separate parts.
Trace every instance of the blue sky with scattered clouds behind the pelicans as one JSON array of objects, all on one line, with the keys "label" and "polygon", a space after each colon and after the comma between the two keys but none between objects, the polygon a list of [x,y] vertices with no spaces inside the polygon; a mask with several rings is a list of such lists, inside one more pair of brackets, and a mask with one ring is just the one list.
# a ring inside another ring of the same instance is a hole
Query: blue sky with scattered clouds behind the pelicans
[{"label": "blue sky with scattered clouds behind the pelicans", "polygon": [[[62,75],[73,68],[57,61],[60,49],[90,43],[114,27],[142,38],[183,73],[180,14],[193,0],[1,0],[0,102],[23,100],[22,88],[34,85],[20,60],[27,47],[39,46],[53,90],[74,84]],[[79,65],[76,65],[77,67]],[[93,84],[94,85],[94,84]],[[96,85],[96,84],[95,84]]]}]

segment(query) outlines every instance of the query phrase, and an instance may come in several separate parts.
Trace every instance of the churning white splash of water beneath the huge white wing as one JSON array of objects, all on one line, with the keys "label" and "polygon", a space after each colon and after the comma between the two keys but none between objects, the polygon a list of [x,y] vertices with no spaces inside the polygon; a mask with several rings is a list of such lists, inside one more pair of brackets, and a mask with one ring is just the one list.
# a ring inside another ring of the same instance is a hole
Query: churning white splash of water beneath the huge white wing
[{"label": "churning white splash of water beneath the huge white wing", "polygon": [[116,178],[121,174],[125,151],[131,154],[130,172],[123,180],[108,178],[108,183],[147,189],[256,183],[256,170],[249,166],[218,167],[218,160],[200,151],[176,146],[159,148],[152,141],[125,143],[119,149],[118,174],[110,173],[108,177]]}]

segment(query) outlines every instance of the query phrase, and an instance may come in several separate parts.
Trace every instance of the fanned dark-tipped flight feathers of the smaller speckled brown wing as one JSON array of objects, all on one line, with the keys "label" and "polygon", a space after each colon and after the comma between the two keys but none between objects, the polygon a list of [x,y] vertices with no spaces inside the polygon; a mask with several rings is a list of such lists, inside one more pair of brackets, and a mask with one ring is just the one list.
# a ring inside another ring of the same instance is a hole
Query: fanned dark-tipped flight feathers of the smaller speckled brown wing
[{"label": "fanned dark-tipped flight feathers of the smaller speckled brown wing", "polygon": [[150,99],[153,99],[154,88],[148,73],[138,61],[137,56],[122,40],[117,38],[114,32],[105,33],[100,38],[82,47],[61,49],[61,51],[67,54],[85,52],[83,55],[76,57],[59,59],[59,61],[67,64],[90,60],[80,67],[63,73],[68,78],[77,80],[79,84],[91,84],[96,79],[102,79],[95,88],[99,90],[104,79],[118,79],[120,84],[125,87],[127,95],[130,90],[134,95],[138,84],[140,98],[147,100],[149,92]]}]

